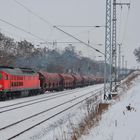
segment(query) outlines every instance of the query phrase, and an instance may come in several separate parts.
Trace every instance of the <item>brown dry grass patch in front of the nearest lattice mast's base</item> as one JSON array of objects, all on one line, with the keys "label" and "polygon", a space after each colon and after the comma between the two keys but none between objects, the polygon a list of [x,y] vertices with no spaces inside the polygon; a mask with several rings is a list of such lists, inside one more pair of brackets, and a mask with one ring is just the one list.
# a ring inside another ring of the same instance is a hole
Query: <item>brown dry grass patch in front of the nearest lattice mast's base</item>
[{"label": "brown dry grass patch in front of the nearest lattice mast's base", "polygon": [[103,112],[109,107],[109,104],[101,103],[95,106],[94,102],[91,102],[91,100],[88,100],[86,103],[87,109],[84,118],[76,128],[72,127],[73,133],[71,135],[71,140],[78,140],[82,135],[88,134],[91,128],[97,126]]}]

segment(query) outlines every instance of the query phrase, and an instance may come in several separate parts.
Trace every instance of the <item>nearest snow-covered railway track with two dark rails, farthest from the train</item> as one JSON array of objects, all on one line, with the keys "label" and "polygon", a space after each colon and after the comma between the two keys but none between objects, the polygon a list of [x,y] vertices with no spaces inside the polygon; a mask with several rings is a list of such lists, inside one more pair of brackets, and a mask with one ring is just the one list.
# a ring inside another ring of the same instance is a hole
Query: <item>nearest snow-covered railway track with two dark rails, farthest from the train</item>
[{"label": "nearest snow-covered railway track with two dark rails, farthest from the train", "polygon": [[[71,109],[72,107],[82,103],[87,98],[95,97],[95,96],[101,96],[101,90],[103,88],[97,89],[96,91],[90,91],[90,92],[84,92],[83,95],[79,95],[73,99],[70,99],[68,101],[65,101],[61,104],[57,104],[51,108],[48,108],[46,110],[43,110],[41,112],[38,112],[34,115],[31,115],[29,117],[26,117],[24,119],[21,119],[17,122],[14,122],[12,124],[9,124],[7,126],[0,128],[0,136],[3,135],[3,133],[6,133],[8,135],[5,136],[6,140],[14,139],[15,137],[31,130],[32,128],[47,122],[51,118],[54,118],[55,116]],[[34,120],[34,121],[32,121]],[[21,130],[21,126],[23,129]],[[13,131],[13,130],[16,130]],[[11,133],[12,132],[12,133]],[[12,135],[10,135],[12,134]],[[3,139],[4,140],[4,139]]]}]

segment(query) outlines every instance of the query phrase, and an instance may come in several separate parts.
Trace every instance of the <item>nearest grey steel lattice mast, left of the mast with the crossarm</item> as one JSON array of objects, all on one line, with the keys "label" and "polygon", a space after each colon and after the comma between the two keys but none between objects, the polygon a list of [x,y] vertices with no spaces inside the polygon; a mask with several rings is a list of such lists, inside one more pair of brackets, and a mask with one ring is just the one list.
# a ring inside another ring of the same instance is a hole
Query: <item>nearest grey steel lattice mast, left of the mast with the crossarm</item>
[{"label": "nearest grey steel lattice mast, left of the mast with the crossarm", "polygon": [[111,99],[111,0],[106,0],[104,99]]}]

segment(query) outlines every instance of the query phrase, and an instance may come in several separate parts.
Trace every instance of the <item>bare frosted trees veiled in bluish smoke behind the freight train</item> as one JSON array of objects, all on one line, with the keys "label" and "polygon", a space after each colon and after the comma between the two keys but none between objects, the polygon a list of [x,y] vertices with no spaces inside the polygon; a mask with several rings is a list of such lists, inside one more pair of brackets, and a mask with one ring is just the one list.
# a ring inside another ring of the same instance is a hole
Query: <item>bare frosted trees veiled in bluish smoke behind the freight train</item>
[{"label": "bare frosted trees veiled in bluish smoke behind the freight train", "polygon": [[79,73],[103,76],[104,63],[83,57],[68,46],[63,51],[35,47],[27,40],[16,42],[0,33],[0,65],[30,67],[58,73]]}]

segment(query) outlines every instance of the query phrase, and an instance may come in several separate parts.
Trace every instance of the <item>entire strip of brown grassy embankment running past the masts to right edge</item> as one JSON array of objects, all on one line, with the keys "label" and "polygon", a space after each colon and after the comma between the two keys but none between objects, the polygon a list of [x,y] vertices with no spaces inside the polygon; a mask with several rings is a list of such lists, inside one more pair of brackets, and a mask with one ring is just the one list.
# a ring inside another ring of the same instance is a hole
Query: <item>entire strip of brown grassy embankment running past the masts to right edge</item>
[{"label": "entire strip of brown grassy embankment running past the masts to right edge", "polygon": [[71,125],[71,128],[73,129],[71,140],[80,139],[81,136],[88,134],[91,129],[99,125],[102,115],[115,103],[125,98],[127,91],[133,87],[133,84],[139,75],[140,72],[133,72],[122,80],[117,88],[117,92],[113,94],[112,100],[110,101],[102,101],[95,106],[95,101],[93,99],[88,100],[86,102],[87,108],[85,110],[86,113],[84,118],[81,119],[78,125]]}]

